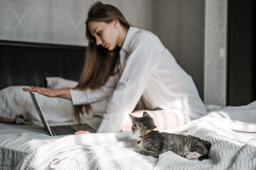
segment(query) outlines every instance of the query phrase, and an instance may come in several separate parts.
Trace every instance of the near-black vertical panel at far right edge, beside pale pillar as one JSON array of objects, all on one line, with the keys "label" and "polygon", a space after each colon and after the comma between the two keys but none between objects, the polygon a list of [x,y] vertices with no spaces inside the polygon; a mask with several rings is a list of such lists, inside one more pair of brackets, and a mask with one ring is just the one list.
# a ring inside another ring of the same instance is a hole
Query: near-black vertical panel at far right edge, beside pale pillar
[{"label": "near-black vertical panel at far right edge, beside pale pillar", "polygon": [[228,3],[228,105],[241,106],[256,100],[255,1]]}]

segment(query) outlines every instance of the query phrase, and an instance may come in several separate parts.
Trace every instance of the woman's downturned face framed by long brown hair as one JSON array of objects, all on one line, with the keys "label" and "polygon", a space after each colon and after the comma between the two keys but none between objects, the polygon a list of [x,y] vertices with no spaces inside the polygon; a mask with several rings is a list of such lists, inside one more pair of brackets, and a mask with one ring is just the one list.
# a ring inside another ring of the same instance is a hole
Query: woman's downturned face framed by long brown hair
[{"label": "woman's downturned face framed by long brown hair", "polygon": [[114,50],[119,46],[119,29],[117,21],[111,23],[90,21],[88,28],[93,37],[95,37],[96,44],[102,45],[107,50]]}]

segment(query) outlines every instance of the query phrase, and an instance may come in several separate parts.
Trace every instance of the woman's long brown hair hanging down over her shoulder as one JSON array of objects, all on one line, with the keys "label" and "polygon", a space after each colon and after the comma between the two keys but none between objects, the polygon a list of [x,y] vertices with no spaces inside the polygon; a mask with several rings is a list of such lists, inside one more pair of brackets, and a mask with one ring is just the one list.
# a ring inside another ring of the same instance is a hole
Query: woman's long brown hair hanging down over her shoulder
[{"label": "woman's long brown hair hanging down over her shoulder", "polygon": [[[110,4],[102,4],[100,1],[95,2],[90,7],[87,21],[85,22],[85,35],[89,41],[85,64],[78,85],[74,89],[98,89],[114,74],[114,69],[119,63],[120,48],[117,47],[115,50],[109,51],[100,45],[96,45],[96,40],[89,31],[88,23],[90,21],[111,23],[115,19],[119,20],[121,26],[127,28],[127,30],[129,29],[129,23],[118,8]],[[75,120],[78,123],[80,123],[80,113],[83,114],[83,108],[85,108],[86,113],[89,113],[91,106],[90,104],[74,106]]]}]

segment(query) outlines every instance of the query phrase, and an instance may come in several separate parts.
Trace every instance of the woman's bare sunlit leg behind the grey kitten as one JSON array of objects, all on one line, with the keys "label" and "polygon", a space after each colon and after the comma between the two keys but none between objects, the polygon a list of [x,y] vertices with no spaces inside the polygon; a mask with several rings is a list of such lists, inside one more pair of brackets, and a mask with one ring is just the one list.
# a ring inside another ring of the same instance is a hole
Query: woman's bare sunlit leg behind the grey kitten
[{"label": "woman's bare sunlit leg behind the grey kitten", "polygon": [[[136,117],[142,117],[143,112],[146,110],[134,111],[132,115]],[[156,130],[166,130],[170,128],[175,128],[181,125],[185,125],[185,121],[178,118],[175,113],[171,111],[146,111],[151,115],[156,125]],[[123,126],[122,131],[130,131],[132,130],[132,121],[128,118],[127,123]]]}]

